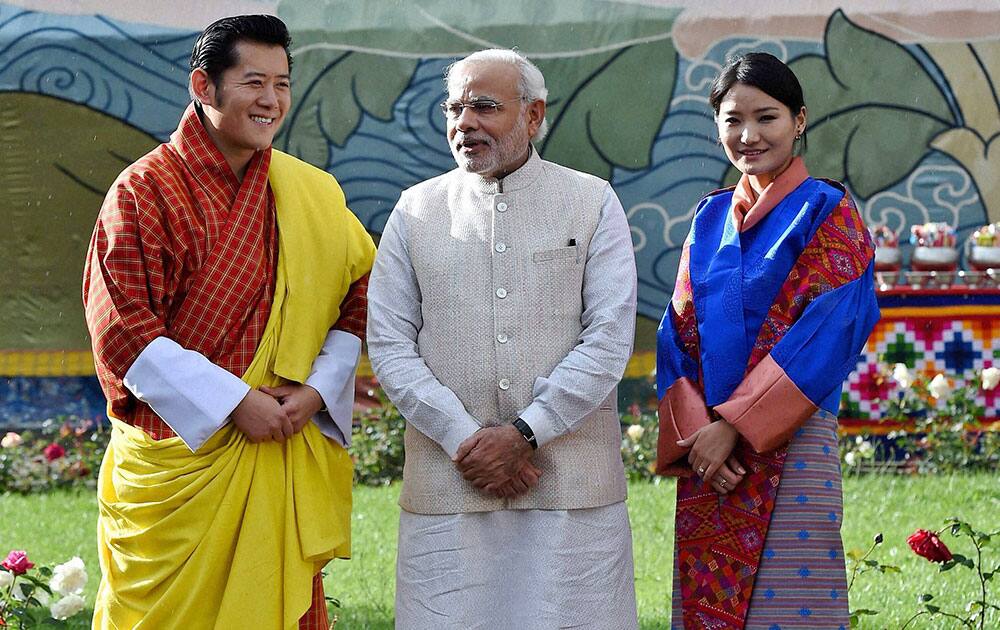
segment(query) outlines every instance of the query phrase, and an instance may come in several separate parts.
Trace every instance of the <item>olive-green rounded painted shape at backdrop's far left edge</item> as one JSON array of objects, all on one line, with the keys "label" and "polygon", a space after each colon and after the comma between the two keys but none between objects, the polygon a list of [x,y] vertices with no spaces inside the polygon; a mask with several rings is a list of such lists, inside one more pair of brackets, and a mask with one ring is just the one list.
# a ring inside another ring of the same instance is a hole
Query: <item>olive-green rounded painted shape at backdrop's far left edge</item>
[{"label": "olive-green rounded painted shape at backdrop's far left edge", "polygon": [[80,302],[104,195],[156,138],[84,105],[0,93],[0,349],[90,348]]}]

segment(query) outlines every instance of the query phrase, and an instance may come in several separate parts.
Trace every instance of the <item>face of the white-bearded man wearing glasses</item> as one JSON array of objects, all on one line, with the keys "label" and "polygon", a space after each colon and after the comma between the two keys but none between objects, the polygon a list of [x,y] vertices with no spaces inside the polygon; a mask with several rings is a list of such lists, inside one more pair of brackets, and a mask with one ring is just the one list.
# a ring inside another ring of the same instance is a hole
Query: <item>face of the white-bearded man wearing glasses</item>
[{"label": "face of the white-bearded man wearing glasses", "polygon": [[520,100],[520,73],[510,64],[477,62],[456,67],[449,77],[448,102],[501,103],[491,113],[471,107],[448,118],[448,146],[459,167],[484,177],[503,177],[528,159],[528,145],[545,118],[545,103]]}]

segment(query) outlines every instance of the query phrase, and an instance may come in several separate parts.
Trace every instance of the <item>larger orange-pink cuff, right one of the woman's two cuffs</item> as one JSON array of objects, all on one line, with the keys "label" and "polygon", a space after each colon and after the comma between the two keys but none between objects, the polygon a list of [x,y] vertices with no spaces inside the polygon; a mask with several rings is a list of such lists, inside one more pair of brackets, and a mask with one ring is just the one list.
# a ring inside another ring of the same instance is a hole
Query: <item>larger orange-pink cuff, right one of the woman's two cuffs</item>
[{"label": "larger orange-pink cuff, right one of the woman's two cuffs", "polygon": [[758,453],[788,442],[817,409],[771,355],[757,364],[729,400],[715,407]]}]

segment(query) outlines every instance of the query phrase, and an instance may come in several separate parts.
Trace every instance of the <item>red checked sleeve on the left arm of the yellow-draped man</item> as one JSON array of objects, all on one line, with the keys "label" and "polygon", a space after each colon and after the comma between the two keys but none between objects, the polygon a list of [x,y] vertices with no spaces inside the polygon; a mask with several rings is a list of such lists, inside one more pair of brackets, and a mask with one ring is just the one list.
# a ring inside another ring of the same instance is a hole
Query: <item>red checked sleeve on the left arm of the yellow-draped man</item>
[{"label": "red checked sleeve on the left arm of the yellow-draped man", "polygon": [[153,193],[119,182],[101,207],[84,269],[83,301],[98,376],[121,379],[165,334],[166,237]]}]

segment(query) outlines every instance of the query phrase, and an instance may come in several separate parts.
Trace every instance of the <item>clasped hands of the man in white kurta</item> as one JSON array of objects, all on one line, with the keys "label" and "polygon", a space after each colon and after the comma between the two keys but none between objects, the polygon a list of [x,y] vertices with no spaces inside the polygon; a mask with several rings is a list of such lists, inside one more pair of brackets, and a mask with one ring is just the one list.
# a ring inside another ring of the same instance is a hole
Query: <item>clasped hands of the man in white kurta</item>
[{"label": "clasped hands of the man in white kurta", "polygon": [[534,450],[513,425],[476,431],[459,444],[453,461],[473,486],[497,497],[516,497],[538,485]]}]

